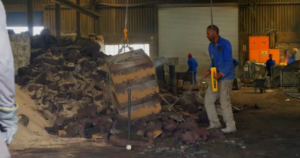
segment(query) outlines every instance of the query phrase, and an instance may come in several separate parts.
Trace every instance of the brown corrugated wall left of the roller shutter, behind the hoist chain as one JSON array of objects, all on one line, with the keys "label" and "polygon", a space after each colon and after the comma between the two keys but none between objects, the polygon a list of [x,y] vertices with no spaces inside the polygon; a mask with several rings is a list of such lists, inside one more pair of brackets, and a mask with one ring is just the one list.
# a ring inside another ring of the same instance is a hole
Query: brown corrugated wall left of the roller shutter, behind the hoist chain
[{"label": "brown corrugated wall left of the roller shutter, behind the hoist chain", "polygon": [[[157,0],[129,0],[129,4],[153,3]],[[100,3],[126,4],[126,0],[101,0]],[[98,6],[102,17],[96,22],[96,34],[103,35],[106,43],[120,42],[125,26],[125,8],[105,8]],[[128,10],[129,42],[150,43],[151,36],[157,32],[157,8],[153,6],[133,7]],[[144,36],[144,37],[142,37]]]}]

